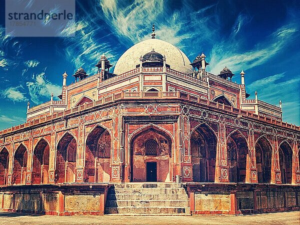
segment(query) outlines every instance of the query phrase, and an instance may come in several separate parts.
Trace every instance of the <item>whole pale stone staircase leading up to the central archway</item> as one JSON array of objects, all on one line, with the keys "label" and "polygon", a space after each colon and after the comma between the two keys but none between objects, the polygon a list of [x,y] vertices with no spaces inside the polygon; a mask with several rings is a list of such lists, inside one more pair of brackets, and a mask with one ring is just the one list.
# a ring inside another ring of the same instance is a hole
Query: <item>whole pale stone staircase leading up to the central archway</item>
[{"label": "whole pale stone staircase leading up to the central archway", "polygon": [[120,183],[110,187],[105,214],[189,214],[180,183]]}]

